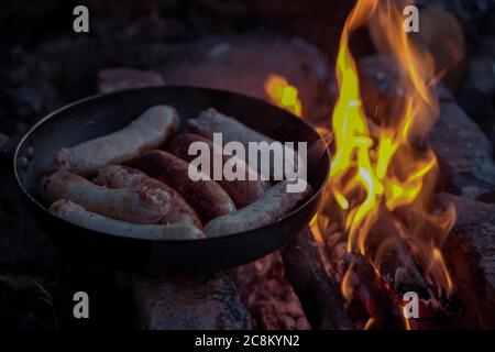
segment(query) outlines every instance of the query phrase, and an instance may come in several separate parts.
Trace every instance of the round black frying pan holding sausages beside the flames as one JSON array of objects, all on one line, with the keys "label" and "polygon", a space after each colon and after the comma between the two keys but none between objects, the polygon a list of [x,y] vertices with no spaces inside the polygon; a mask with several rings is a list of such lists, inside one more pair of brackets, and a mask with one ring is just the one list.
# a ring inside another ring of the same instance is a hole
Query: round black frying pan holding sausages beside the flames
[{"label": "round black frying pan holding sausages beside the flames", "polygon": [[241,233],[194,241],[130,239],[88,230],[52,215],[40,197],[38,184],[52,166],[55,153],[63,146],[117,131],[154,105],[173,106],[182,117],[182,131],[187,119],[215,107],[280,142],[308,142],[310,146],[319,141],[315,130],[289,112],[258,99],[217,89],[148,87],[70,103],[34,125],[18,145],[13,161],[26,206],[66,255],[82,263],[146,276],[207,274],[249,263],[279,249],[315,216],[330,166],[326,148],[308,161],[308,182],[314,196],[283,219]]}]

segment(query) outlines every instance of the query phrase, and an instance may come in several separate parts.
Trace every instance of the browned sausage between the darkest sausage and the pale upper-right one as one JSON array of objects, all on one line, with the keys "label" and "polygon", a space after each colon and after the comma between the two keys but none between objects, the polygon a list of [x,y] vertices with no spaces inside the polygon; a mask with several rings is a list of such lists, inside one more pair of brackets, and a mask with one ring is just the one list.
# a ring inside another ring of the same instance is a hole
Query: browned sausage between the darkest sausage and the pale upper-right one
[{"label": "browned sausage between the darkest sausage and the pale upper-right one", "polygon": [[[232,200],[235,204],[235,207],[238,208],[243,208],[250,204],[252,204],[253,201],[255,201],[256,199],[258,199],[261,196],[263,196],[263,194],[270,188],[270,183],[265,182],[265,180],[248,180],[248,169],[249,166],[248,164],[242,161],[241,158],[237,157],[237,156],[222,156],[222,155],[213,155],[213,142],[201,136],[198,134],[194,134],[194,133],[184,133],[184,134],[179,134],[177,135],[169,145],[169,152],[177,155],[178,157],[187,161],[187,162],[191,162],[194,158],[196,158],[196,155],[189,155],[188,151],[189,151],[189,145],[194,142],[204,142],[206,144],[208,144],[209,150],[210,150],[210,169],[212,169],[213,167],[213,157],[221,157],[222,160],[222,169],[224,164],[230,160],[230,158],[235,158],[235,163],[237,165],[243,165],[243,166],[239,166],[241,167],[241,169],[245,169],[245,180],[227,180],[222,177],[221,180],[218,180],[218,183],[227,190],[227,193],[229,194],[229,196],[232,198]],[[221,154],[221,145],[218,146],[220,148],[220,153],[216,153],[216,154]],[[252,173],[255,173],[255,170],[251,169]],[[212,172],[210,172],[210,176],[211,177]],[[260,177],[257,177],[256,179],[260,179]]]}]

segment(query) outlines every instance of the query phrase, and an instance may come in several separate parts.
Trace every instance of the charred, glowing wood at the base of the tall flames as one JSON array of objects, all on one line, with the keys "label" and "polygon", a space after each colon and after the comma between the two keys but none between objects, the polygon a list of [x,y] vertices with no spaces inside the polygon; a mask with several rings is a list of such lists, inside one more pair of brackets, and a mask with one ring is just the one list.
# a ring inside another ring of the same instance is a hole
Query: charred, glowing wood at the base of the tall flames
[{"label": "charred, glowing wood at the base of the tall flames", "polygon": [[[383,226],[389,224],[387,221],[384,222]],[[376,229],[374,229],[370,233],[370,242],[367,244],[371,245],[369,249],[380,244],[377,235],[383,235],[385,231],[383,226],[380,227],[381,232],[377,233]],[[449,307],[453,301],[452,299],[438,299],[437,295],[431,297],[433,292],[421,275],[422,271],[419,271],[413,261],[410,249],[404,240],[393,238],[392,241],[386,241],[381,246],[378,254],[371,255],[376,265],[373,266],[361,254],[345,254],[346,243],[342,242],[345,238],[342,231],[333,230],[333,234],[326,235],[326,248],[329,250],[328,255],[330,255],[331,270],[337,271],[336,276],[332,277],[336,277],[334,279],[338,282],[342,282],[342,277],[346,279],[342,288],[344,294],[350,295],[348,297],[350,305],[346,308],[349,316],[361,321],[362,317],[367,318],[372,314],[377,315],[378,318],[369,320],[369,323],[371,321],[373,323],[371,326],[366,324],[366,329],[408,328],[410,330],[431,330],[438,327],[439,322],[446,321],[452,314],[451,307]],[[377,256],[380,256],[380,260],[376,260]],[[353,267],[345,276],[344,273],[351,265],[359,267]],[[380,272],[380,275],[377,272]],[[373,275],[376,277],[373,277]],[[352,293],[355,293],[352,297],[351,289]],[[399,321],[397,315],[402,311],[402,306],[405,304],[404,294],[407,292],[417,293],[420,299],[419,317],[409,318],[406,326],[405,321]],[[394,310],[393,315],[383,314],[383,311],[387,312],[391,307]]]}]

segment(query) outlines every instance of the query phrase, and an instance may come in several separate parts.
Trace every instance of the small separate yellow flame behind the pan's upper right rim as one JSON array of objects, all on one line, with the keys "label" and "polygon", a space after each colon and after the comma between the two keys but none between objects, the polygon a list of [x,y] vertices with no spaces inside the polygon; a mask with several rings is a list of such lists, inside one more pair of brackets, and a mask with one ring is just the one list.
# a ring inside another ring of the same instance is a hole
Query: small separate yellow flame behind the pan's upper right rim
[{"label": "small separate yellow flame behind the pan's upper right rim", "polygon": [[302,105],[298,97],[296,87],[289,85],[287,80],[279,75],[271,75],[265,81],[265,92],[270,100],[290,111],[297,117],[302,113]]}]

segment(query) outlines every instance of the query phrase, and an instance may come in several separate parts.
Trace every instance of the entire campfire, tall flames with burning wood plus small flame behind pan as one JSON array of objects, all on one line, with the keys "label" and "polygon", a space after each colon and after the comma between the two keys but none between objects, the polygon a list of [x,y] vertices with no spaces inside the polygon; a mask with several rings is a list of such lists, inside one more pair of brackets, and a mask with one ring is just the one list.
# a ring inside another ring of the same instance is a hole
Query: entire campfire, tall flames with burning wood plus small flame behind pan
[{"label": "entire campfire, tall flames with burning wood plus small flame behind pan", "polygon": [[[403,29],[404,18],[388,1],[358,1],[339,44],[336,75],[339,98],[330,125],[319,131],[332,151],[329,185],[311,223],[316,240],[330,253],[330,275],[340,282],[349,309],[361,309],[370,328],[411,326],[403,295],[421,297],[422,312],[443,314],[455,286],[442,256],[442,244],[455,222],[455,209],[435,205],[438,161],[426,142],[439,113],[435,63],[416,47]],[[406,97],[386,110],[380,102],[365,109],[349,41],[369,24],[384,38],[405,73],[399,82]],[[297,89],[271,76],[265,85],[275,103],[300,116]],[[345,254],[332,255],[345,241]],[[355,307],[360,306],[360,307]],[[363,315],[359,315],[363,316]]]}]

